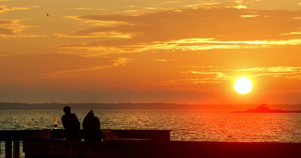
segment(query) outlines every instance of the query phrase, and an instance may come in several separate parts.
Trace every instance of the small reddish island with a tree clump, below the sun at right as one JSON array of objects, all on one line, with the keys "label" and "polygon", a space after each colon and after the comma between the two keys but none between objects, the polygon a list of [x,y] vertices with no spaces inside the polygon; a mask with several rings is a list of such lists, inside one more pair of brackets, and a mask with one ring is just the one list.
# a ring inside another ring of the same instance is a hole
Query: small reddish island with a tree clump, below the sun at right
[{"label": "small reddish island with a tree clump, below the sun at right", "polygon": [[256,109],[234,111],[232,113],[301,113],[301,110],[274,110],[270,109],[266,104],[261,104]]}]

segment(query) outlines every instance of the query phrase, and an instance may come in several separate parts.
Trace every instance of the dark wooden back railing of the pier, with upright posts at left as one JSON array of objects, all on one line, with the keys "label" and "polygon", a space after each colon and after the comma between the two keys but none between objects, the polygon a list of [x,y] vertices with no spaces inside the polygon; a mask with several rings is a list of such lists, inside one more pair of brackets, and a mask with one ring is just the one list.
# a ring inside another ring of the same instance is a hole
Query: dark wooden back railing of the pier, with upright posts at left
[{"label": "dark wooden back railing of the pier, with upright posts at left", "polygon": [[[111,139],[157,139],[170,140],[171,130],[100,130],[103,136],[103,141]],[[110,136],[109,136],[110,135]],[[83,130],[80,130],[80,137],[84,139]],[[20,141],[22,140],[46,140],[53,139],[54,141],[66,138],[66,132],[63,129],[56,130],[0,130],[0,141],[5,142],[5,158],[20,157]],[[55,140],[56,139],[56,140]],[[112,141],[112,140],[111,140]],[[23,142],[24,144],[24,142]],[[25,142],[26,144],[26,142]],[[0,143],[1,148],[1,143]],[[28,151],[28,148],[23,151]],[[36,147],[34,147],[36,148]],[[29,154],[27,154],[29,155]],[[1,155],[0,155],[1,156]]]}]

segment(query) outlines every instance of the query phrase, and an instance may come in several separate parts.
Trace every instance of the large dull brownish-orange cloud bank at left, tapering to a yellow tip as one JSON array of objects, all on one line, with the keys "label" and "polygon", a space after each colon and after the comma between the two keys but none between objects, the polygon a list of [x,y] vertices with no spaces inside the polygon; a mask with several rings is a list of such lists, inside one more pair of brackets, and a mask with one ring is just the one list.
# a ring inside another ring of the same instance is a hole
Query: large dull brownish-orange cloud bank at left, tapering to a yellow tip
[{"label": "large dull brownish-orange cloud bank at left, tapering to a yellow tip", "polygon": [[84,77],[87,71],[117,67],[131,58],[92,58],[74,54],[26,54],[0,56],[1,81],[63,77]]}]

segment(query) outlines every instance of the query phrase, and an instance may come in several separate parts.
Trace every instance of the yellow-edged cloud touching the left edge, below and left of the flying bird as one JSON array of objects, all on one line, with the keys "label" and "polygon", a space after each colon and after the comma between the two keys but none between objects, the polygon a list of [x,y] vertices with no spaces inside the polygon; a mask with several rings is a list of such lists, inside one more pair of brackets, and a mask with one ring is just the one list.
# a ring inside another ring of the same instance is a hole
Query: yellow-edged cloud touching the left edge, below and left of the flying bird
[{"label": "yellow-edged cloud touching the left edge, below and left of the flying bird", "polygon": [[22,20],[3,20],[0,19],[0,37],[44,37],[47,35],[23,34],[25,28],[39,27],[20,24]]}]

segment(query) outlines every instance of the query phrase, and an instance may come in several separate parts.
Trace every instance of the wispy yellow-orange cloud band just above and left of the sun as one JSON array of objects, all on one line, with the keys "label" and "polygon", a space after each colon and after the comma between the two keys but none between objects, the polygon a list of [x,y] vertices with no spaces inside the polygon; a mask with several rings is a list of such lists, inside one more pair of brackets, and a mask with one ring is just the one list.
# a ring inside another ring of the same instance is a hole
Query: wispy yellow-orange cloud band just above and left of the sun
[{"label": "wispy yellow-orange cloud band just above and left of the sun", "polygon": [[[206,69],[202,71],[186,71],[181,73],[191,73],[197,75],[196,78],[191,79],[167,79],[167,80],[143,80],[138,83],[137,86],[145,86],[151,89],[169,89],[169,90],[192,90],[195,88],[185,87],[185,85],[197,85],[197,84],[211,84],[222,83],[226,80],[235,80],[241,77],[282,77],[286,79],[301,79],[301,67],[255,67],[249,69],[229,70],[229,69],[212,69],[216,66],[203,66],[203,67],[179,67],[179,68],[201,68]],[[238,76],[237,72],[253,73],[248,76]],[[254,74],[255,73],[255,74]],[[159,87],[158,87],[159,86]],[[173,86],[173,87],[171,87]],[[177,89],[179,88],[179,89]],[[191,89],[192,88],[192,89]]]}]

